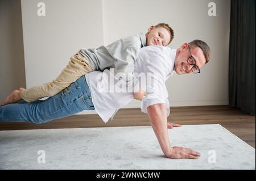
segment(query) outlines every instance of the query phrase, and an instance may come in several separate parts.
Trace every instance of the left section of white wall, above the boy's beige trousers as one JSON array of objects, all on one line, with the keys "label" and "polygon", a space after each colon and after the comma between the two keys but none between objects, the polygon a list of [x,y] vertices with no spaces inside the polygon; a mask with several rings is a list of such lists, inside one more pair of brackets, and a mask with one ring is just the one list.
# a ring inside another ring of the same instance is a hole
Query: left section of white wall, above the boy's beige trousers
[{"label": "left section of white wall, above the boy's beige trousers", "polygon": [[[38,16],[38,2],[46,16]],[[101,0],[22,0],[27,87],[52,81],[79,49],[104,43]]]}]

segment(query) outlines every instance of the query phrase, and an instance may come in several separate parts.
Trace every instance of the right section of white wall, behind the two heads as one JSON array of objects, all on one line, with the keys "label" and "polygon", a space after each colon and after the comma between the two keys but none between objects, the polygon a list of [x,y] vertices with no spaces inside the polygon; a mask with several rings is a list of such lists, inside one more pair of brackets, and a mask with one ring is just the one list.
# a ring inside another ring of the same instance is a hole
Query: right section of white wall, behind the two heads
[{"label": "right section of white wall, behind the two heads", "polygon": [[[216,3],[217,16],[208,16],[209,2]],[[229,0],[103,0],[103,10],[106,44],[160,22],[174,29],[171,48],[194,39],[207,42],[212,56],[201,74],[168,79],[171,106],[228,104]],[[139,107],[139,102],[127,107]]]}]

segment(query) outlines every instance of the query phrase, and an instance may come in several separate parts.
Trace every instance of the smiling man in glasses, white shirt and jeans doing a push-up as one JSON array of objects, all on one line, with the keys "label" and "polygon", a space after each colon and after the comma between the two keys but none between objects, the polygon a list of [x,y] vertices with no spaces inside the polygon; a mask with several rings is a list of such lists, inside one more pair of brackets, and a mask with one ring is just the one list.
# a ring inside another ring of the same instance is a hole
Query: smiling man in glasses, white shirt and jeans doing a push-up
[{"label": "smiling man in glasses, white shirt and jeans doing a push-up", "polygon": [[[179,49],[148,46],[141,49],[135,61],[135,73],[146,73],[154,83],[146,84],[142,99],[142,112],[148,113],[150,122],[163,153],[167,158],[198,158],[200,153],[188,148],[171,147],[167,132],[167,116],[170,114],[168,92],[165,82],[174,71],[177,74],[200,73],[209,61],[210,49],[204,41],[194,40]],[[45,123],[49,120],[70,116],[82,110],[95,109],[108,121],[119,108],[133,99],[131,92],[109,90],[108,69],[93,71],[72,83],[59,94],[35,103],[8,104],[0,107],[0,121],[28,121]]]}]

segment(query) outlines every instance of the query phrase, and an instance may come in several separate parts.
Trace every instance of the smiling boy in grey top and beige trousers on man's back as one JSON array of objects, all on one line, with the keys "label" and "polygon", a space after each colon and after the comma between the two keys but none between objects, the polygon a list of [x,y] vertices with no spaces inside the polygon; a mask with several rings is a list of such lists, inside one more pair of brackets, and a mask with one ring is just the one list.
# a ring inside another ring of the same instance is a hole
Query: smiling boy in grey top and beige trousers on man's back
[{"label": "smiling boy in grey top and beige trousers on man's back", "polygon": [[[139,33],[135,36],[125,37],[106,47],[80,49],[71,57],[67,67],[55,80],[27,90],[20,87],[11,92],[3,100],[1,106],[16,103],[22,99],[26,102],[34,102],[44,97],[56,95],[90,71],[114,68],[115,74],[133,73],[134,61],[138,57],[139,49],[148,45],[167,46],[173,38],[174,31],[172,28],[166,23],[159,23],[149,27],[146,35]],[[129,82],[132,78],[127,77],[126,81]]]}]

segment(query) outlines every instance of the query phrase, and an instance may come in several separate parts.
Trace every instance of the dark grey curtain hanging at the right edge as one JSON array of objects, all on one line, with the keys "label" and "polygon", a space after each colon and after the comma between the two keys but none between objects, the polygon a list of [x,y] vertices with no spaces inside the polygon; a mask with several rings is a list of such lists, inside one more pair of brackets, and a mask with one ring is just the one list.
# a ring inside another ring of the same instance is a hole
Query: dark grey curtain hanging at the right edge
[{"label": "dark grey curtain hanging at the right edge", "polygon": [[231,0],[229,104],[255,116],[255,0]]}]

